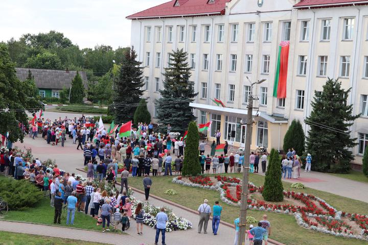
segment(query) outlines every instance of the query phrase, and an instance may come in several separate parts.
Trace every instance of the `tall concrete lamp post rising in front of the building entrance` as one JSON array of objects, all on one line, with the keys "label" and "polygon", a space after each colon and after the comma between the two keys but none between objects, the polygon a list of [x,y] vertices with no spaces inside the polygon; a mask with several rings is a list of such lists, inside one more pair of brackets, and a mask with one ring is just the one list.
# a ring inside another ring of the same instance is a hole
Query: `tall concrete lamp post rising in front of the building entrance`
[{"label": "tall concrete lamp post rising in front of the building entrance", "polygon": [[250,83],[250,92],[248,95],[248,111],[246,116],[246,131],[245,131],[245,142],[244,142],[244,164],[243,164],[243,184],[242,184],[242,193],[241,193],[241,206],[240,206],[240,220],[239,220],[239,239],[238,245],[244,245],[245,243],[245,233],[246,233],[246,211],[248,207],[248,178],[249,178],[249,152],[250,152],[250,143],[252,137],[252,128],[253,128],[253,86],[255,84],[261,84],[266,79],[261,79],[255,83],[252,83],[248,77],[246,77]]}]

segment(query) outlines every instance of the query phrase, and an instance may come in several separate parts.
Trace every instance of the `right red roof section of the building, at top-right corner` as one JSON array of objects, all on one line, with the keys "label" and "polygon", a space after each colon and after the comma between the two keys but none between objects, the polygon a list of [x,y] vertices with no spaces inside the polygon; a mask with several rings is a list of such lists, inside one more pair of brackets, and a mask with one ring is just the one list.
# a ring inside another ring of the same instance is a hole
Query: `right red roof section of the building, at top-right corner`
[{"label": "right red roof section of the building, at top-right corner", "polygon": [[363,5],[368,4],[368,0],[301,0],[301,2],[295,4],[293,7],[298,9],[303,8],[327,8],[327,7],[339,7],[349,5]]}]

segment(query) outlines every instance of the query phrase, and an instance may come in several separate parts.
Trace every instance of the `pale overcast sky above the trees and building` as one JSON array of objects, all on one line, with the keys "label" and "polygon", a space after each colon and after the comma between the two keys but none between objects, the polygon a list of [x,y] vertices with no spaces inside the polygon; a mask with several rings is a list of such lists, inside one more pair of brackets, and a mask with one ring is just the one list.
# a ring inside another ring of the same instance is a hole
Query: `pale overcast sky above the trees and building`
[{"label": "pale overcast sky above the trees and building", "polygon": [[169,0],[1,0],[0,41],[55,30],[80,48],[130,45],[126,16]]}]

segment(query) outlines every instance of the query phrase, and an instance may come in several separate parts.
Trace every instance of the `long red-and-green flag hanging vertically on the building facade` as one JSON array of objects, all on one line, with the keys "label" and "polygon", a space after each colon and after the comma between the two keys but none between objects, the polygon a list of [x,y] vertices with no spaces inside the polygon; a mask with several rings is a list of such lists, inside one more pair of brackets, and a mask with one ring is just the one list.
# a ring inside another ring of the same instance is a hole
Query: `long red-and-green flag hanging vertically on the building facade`
[{"label": "long red-and-green flag hanging vertically on the building facade", "polygon": [[282,41],[279,45],[279,55],[273,85],[273,97],[286,98],[286,80],[289,60],[290,41]]}]

